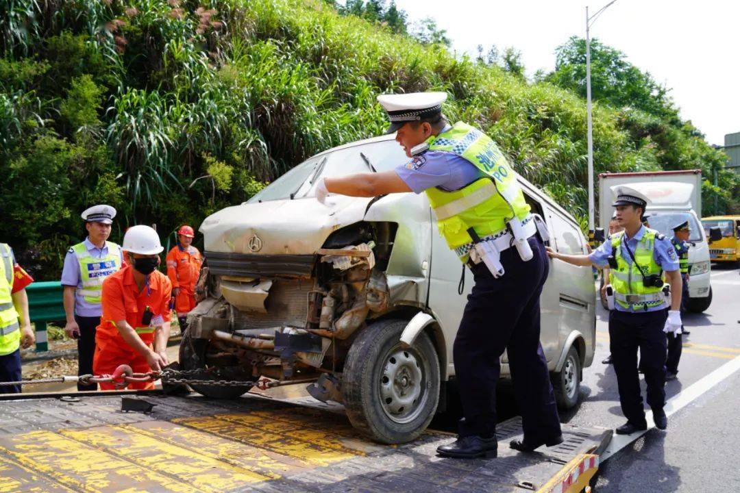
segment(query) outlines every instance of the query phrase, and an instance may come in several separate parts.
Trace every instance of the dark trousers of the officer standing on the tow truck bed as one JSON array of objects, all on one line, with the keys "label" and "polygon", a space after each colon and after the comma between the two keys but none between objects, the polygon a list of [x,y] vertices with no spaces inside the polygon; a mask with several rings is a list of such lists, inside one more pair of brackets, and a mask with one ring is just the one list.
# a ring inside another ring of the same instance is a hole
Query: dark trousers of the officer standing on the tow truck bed
[{"label": "dark trousers of the officer standing on the tow truck bed", "polygon": [[495,436],[496,384],[504,350],[525,440],[534,443],[560,435],[548,364],[539,344],[539,294],[549,259],[539,237],[528,241],[534,257],[524,262],[516,248],[503,251],[505,274],[498,279],[482,262],[471,268],[475,285],[453,347],[464,416],[461,436]]}]

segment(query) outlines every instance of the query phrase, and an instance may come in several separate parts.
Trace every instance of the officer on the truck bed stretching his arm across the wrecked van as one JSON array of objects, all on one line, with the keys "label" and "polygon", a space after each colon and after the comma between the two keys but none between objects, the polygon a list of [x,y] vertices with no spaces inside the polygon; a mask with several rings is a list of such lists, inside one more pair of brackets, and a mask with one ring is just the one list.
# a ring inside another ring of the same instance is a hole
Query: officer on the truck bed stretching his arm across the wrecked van
[{"label": "officer on the truck bed stretching his arm across the wrecked van", "polygon": [[548,276],[540,235],[546,229],[530,214],[516,173],[496,143],[473,126],[445,120],[446,98],[444,92],[379,96],[391,120],[388,133],[396,132],[411,160],[392,171],[325,178],[317,182],[316,195],[323,203],[330,193],[426,193],[440,233],[475,279],[454,341],[464,418],[457,441],[437,452],[496,456],[495,392],[506,349],[524,428],[524,440],[510,446],[532,452],[562,441],[539,344],[539,294]]}]

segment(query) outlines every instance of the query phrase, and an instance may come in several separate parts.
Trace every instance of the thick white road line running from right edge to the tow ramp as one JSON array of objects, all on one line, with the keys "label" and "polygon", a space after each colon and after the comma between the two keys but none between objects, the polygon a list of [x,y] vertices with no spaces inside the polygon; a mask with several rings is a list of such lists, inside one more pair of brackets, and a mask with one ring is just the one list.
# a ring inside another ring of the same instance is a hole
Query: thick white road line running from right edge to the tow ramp
[{"label": "thick white road line running from right edge to the tow ramp", "polygon": [[[665,414],[668,416],[675,414],[680,409],[691,404],[693,401],[696,401],[696,399],[701,397],[704,392],[707,392],[716,384],[719,384],[719,382],[723,381],[725,378],[735,373],[737,370],[740,370],[740,356],[737,356],[732,361],[728,361],[709,375],[705,375],[704,378],[702,378],[701,380],[690,385],[689,387],[686,387],[678,394],[673,395],[673,397],[668,399],[667,403],[665,404]],[[653,422],[653,412],[646,412],[645,418],[647,419],[647,429],[654,428],[655,423]],[[668,431],[670,432],[670,420],[668,421]],[[624,449],[625,446],[628,446],[630,443],[636,441],[642,435],[645,435],[645,433],[647,433],[647,431],[636,432],[632,435],[615,434],[611,439],[609,446],[601,455],[600,460],[607,460],[612,455],[615,455],[616,452]]]}]

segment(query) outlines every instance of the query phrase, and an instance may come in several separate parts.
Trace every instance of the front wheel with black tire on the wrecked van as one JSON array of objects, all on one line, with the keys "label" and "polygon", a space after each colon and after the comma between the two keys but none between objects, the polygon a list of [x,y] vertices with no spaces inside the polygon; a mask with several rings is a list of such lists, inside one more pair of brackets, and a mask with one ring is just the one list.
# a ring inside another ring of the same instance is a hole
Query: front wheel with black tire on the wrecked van
[{"label": "front wheel with black tire on the wrecked van", "polygon": [[440,400],[440,361],[426,333],[411,347],[405,320],[381,320],[354,339],[344,364],[342,394],[352,426],[380,443],[414,440]]}]

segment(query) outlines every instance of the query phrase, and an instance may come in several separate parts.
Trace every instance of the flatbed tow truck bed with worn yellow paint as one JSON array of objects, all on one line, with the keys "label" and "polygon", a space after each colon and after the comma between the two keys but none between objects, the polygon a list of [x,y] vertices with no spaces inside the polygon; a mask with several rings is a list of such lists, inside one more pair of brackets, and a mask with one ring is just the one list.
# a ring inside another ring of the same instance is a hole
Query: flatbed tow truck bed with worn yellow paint
[{"label": "flatbed tow truck bed with worn yellow paint", "polygon": [[368,441],[336,407],[250,393],[235,401],[140,392],[0,401],[0,492],[578,492],[611,431],[563,425],[565,442],[521,454],[519,418],[499,425],[497,459],[437,457],[428,430],[400,446]]}]

